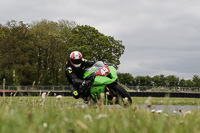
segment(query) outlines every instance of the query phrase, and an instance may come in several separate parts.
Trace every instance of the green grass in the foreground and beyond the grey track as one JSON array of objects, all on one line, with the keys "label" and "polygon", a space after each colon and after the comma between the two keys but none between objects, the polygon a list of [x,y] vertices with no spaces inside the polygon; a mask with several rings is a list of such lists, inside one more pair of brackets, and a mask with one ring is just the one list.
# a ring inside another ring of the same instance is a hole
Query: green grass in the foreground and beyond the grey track
[{"label": "green grass in the foreground and beyond the grey track", "polygon": [[[0,97],[1,133],[198,133],[200,112],[151,113],[135,106],[82,108],[82,100],[48,97]],[[199,99],[133,98],[134,104],[199,105]]]}]

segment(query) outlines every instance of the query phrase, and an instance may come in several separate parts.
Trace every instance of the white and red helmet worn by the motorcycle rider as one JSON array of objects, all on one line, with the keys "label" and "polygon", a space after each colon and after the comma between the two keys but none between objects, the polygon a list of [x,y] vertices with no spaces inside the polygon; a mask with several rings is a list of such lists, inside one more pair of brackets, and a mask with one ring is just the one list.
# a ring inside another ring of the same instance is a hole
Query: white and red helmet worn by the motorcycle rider
[{"label": "white and red helmet worn by the motorcycle rider", "polygon": [[82,64],[82,54],[79,51],[73,51],[70,54],[70,60],[74,67],[79,68]]}]

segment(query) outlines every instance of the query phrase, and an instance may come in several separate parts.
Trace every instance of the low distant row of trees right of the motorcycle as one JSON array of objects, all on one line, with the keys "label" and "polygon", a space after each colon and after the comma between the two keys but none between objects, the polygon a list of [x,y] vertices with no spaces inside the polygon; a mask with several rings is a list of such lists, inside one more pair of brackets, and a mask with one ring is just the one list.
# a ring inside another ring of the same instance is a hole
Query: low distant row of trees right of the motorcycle
[{"label": "low distant row of trees right of the motorcycle", "polygon": [[200,77],[192,79],[179,78],[175,75],[136,76],[130,73],[118,73],[120,83],[126,86],[163,86],[163,87],[200,87]]}]

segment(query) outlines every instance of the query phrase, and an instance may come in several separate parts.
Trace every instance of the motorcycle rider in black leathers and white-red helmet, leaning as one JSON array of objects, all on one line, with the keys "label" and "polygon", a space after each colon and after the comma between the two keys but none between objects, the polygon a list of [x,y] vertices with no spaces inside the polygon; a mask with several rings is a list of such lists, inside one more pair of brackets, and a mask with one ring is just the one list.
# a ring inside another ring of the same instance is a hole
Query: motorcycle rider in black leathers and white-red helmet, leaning
[{"label": "motorcycle rider in black leathers and white-red helmet, leaning", "polygon": [[[84,59],[79,51],[73,51],[70,54],[70,59],[66,62],[65,74],[69,82],[69,87],[72,91],[72,96],[75,99],[83,98],[84,96],[79,94],[79,90],[88,88],[91,84],[91,81],[83,79],[83,74],[85,69],[87,67],[91,67],[94,63],[95,61],[88,61]],[[87,102],[86,99],[84,100],[84,102]]]}]

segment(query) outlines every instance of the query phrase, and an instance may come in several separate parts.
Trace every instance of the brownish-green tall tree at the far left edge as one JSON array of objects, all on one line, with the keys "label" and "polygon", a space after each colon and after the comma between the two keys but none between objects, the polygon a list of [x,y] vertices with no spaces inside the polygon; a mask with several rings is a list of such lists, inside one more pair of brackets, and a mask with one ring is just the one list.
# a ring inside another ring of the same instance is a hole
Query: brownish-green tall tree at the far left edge
[{"label": "brownish-green tall tree at the far left edge", "polygon": [[[11,84],[31,84],[34,79],[34,60],[30,26],[22,21],[8,21],[1,27],[1,73]],[[15,78],[13,77],[15,72]]]}]

